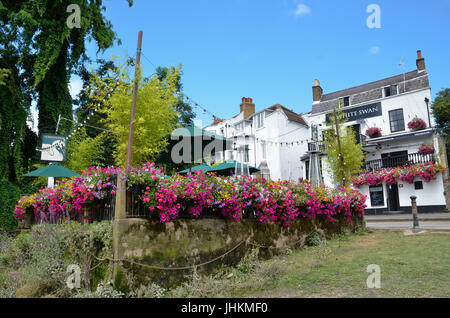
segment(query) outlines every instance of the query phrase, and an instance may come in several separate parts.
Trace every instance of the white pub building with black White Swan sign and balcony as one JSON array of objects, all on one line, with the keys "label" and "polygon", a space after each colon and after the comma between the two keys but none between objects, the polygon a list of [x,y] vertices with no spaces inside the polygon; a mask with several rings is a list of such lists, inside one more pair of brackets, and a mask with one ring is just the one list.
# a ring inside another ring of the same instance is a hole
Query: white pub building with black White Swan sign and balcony
[{"label": "white pub building with black White Swan sign and balcony", "polygon": [[[431,114],[431,89],[425,60],[418,51],[417,69],[405,74],[385,78],[372,83],[323,94],[319,82],[313,86],[313,105],[305,119],[311,127],[318,128],[319,139],[329,116],[341,100],[348,118],[345,125],[353,129],[363,142],[366,152],[365,171],[391,168],[410,163],[427,162],[431,155],[418,154],[421,144],[433,144],[435,154],[445,150],[444,143],[435,135],[434,119]],[[408,122],[421,118],[427,128],[419,131],[408,129]],[[369,138],[365,132],[370,127],[382,130],[382,136]],[[445,153],[445,151],[444,151]],[[442,160],[445,161],[445,156]],[[441,162],[447,166],[445,162]],[[331,184],[326,165],[322,161],[324,183]],[[421,212],[441,211],[446,207],[444,181],[447,172],[439,173],[429,183],[416,178],[414,184],[399,181],[395,185],[362,186],[359,191],[368,196],[366,213],[385,211],[410,211],[410,196],[417,197]]]}]

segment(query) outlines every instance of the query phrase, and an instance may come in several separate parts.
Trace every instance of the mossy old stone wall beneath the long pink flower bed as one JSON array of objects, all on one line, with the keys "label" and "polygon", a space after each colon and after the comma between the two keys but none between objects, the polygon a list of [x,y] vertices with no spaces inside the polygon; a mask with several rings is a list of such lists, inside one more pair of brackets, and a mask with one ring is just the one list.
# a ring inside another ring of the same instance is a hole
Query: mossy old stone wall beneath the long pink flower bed
[{"label": "mossy old stone wall beneath the long pink flower bed", "polygon": [[[226,254],[223,258],[197,267],[198,273],[207,274],[214,272],[221,264],[237,264],[256,246],[260,246],[262,257],[270,257],[287,247],[302,248],[311,233],[330,238],[344,228],[352,231],[363,224],[364,221],[357,217],[350,223],[344,219],[335,223],[298,219],[288,228],[279,224],[262,224],[256,220],[236,223],[224,219],[177,219],[163,224],[151,219],[120,219],[115,221],[114,226],[114,235],[118,240],[115,258],[170,268],[190,267]],[[193,272],[191,268],[159,270],[136,263],[123,261],[116,265],[116,288],[127,292],[130,287],[148,286],[152,282],[173,287]]]}]

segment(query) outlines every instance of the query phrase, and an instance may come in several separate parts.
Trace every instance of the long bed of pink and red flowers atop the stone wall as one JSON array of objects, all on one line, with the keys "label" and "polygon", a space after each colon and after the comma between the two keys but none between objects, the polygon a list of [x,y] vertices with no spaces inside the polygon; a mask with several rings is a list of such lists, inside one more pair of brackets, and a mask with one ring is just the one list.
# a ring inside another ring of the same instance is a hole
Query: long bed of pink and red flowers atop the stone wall
[{"label": "long bed of pink and red flowers atop the stone wall", "polygon": [[[58,183],[55,189],[45,188],[33,199],[21,199],[16,216],[22,219],[30,209],[43,220],[95,211],[108,192],[116,191],[111,178],[119,172],[116,167],[89,168],[81,177]],[[334,222],[342,216],[350,220],[353,215],[362,217],[366,207],[366,196],[356,190],[313,187],[303,181],[218,177],[201,171],[167,177],[151,163],[132,168],[125,178],[128,187],[141,189],[141,202],[163,223],[212,211],[236,222],[252,216],[262,223],[289,226],[296,218],[323,216]]]}]

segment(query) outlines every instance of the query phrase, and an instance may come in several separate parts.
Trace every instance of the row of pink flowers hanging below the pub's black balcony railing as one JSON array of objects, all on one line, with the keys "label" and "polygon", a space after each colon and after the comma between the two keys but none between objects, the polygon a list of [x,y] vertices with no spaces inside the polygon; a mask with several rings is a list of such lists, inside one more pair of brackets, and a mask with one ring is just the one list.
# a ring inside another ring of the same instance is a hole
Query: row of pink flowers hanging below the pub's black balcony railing
[{"label": "row of pink flowers hanging below the pub's black balcony railing", "polygon": [[436,174],[444,170],[444,166],[439,164],[418,163],[410,166],[385,168],[363,173],[354,176],[352,181],[353,185],[358,188],[365,184],[380,185],[383,181],[387,184],[396,184],[396,179],[412,184],[414,183],[415,177],[418,177],[425,182],[430,182],[436,178]]}]

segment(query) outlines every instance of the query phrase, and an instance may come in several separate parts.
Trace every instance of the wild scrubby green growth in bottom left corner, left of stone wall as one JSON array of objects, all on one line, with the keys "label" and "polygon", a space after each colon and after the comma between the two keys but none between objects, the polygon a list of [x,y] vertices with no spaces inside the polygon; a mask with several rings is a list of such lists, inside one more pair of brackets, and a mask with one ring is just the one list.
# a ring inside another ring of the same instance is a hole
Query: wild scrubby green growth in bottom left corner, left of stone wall
[{"label": "wild scrubby green growth in bottom left corner, left of stone wall", "polygon": [[[103,286],[110,278],[109,262],[95,259],[111,257],[111,241],[109,221],[39,224],[14,238],[1,233],[0,297],[70,297],[80,292],[89,295],[91,286],[100,286],[93,297],[120,297]],[[66,285],[70,264],[81,268],[81,290],[70,290]]]}]

